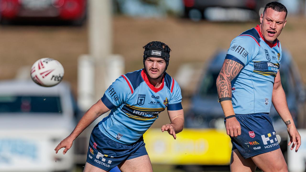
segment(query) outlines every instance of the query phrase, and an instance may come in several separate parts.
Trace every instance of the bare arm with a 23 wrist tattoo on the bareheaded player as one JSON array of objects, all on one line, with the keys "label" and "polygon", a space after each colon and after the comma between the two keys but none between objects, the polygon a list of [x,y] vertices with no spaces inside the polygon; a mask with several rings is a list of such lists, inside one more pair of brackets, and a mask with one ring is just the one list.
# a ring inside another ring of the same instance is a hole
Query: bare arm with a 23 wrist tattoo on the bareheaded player
[{"label": "bare arm with a 23 wrist tattoo on the bareheaded player", "polygon": [[[294,146],[297,145],[295,151],[297,151],[301,144],[301,136],[297,131],[290,111],[288,109],[286,95],[281,83],[281,76],[278,71],[276,77],[274,78],[273,92],[272,92],[272,103],[275,107],[275,110],[278,112],[279,116],[287,125],[287,131],[290,137],[290,141],[288,146],[292,144],[291,150],[293,150]],[[296,143],[297,142],[297,143]]]}]

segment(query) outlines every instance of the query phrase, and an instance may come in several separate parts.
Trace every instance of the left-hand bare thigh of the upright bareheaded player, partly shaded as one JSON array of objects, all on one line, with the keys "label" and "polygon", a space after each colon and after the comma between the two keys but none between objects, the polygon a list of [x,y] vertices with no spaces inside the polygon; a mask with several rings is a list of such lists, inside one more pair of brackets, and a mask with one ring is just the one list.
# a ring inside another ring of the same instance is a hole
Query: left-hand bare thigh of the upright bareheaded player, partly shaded
[{"label": "left-hand bare thigh of the upright bareheaded player, partly shaded", "polygon": [[237,149],[232,150],[230,157],[231,172],[254,172],[256,165],[251,158],[244,159]]}]

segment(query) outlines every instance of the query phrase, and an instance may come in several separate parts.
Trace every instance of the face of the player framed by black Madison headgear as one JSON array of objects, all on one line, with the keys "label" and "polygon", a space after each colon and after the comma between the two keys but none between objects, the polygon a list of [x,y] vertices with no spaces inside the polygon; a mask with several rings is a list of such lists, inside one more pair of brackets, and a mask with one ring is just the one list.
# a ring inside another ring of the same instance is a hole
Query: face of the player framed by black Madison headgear
[{"label": "face of the player framed by black Madison headgear", "polygon": [[152,79],[157,79],[166,69],[166,62],[162,58],[149,57],[144,61],[146,71]]}]

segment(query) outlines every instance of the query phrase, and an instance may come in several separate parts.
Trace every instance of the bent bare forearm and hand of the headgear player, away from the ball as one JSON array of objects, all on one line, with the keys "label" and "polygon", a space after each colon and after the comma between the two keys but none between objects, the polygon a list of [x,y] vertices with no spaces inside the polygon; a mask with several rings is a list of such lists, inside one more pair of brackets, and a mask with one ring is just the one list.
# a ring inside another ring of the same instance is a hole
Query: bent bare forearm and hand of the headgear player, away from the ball
[{"label": "bent bare forearm and hand of the headgear player, away from the ball", "polygon": [[184,110],[168,110],[170,124],[162,126],[162,132],[168,131],[170,135],[176,139],[176,133],[179,133],[184,128]]}]

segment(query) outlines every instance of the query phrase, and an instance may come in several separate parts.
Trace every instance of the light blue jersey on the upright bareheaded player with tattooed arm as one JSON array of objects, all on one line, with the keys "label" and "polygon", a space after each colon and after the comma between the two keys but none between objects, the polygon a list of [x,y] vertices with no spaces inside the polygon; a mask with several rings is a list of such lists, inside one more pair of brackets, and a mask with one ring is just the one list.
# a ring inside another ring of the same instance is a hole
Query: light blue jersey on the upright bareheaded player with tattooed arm
[{"label": "light blue jersey on the upright bareheaded player with tattooed arm", "polygon": [[269,113],[274,78],[282,59],[282,48],[278,39],[273,44],[267,42],[257,25],[233,39],[226,59],[244,65],[232,80],[235,114]]}]

